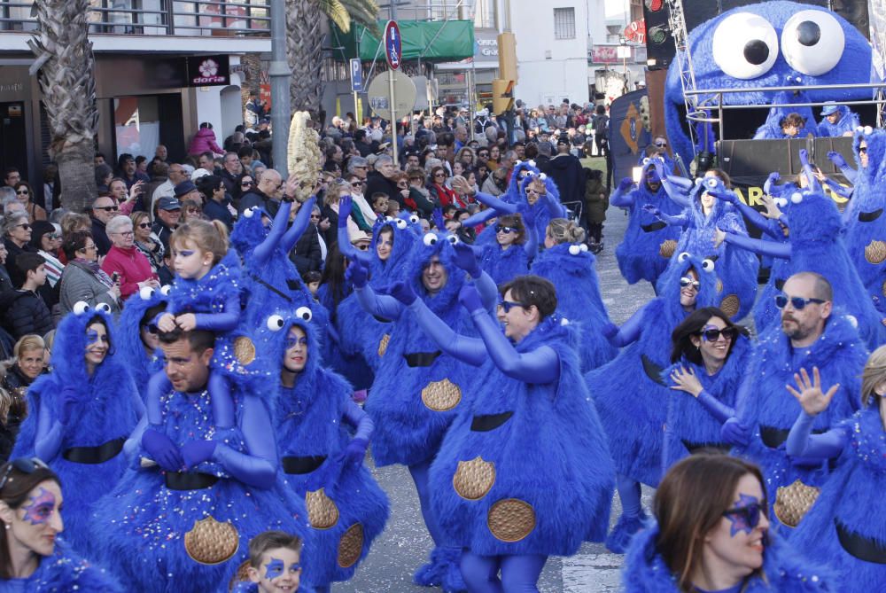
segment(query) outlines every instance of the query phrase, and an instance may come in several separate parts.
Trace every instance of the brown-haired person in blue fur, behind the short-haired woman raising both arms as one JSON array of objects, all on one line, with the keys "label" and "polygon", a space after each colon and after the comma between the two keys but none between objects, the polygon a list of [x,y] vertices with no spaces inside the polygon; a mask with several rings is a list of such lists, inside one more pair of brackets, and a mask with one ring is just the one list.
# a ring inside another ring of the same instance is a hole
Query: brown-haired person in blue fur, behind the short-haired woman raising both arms
[{"label": "brown-haired person in blue fur, behind the short-haired woman raising both arms", "polygon": [[577,327],[583,373],[618,354],[602,332],[611,322],[600,295],[595,261],[585,245],[585,230],[564,218],[548,224],[545,249],[532,261],[532,274],[546,278],[556,288],[557,312]]}]

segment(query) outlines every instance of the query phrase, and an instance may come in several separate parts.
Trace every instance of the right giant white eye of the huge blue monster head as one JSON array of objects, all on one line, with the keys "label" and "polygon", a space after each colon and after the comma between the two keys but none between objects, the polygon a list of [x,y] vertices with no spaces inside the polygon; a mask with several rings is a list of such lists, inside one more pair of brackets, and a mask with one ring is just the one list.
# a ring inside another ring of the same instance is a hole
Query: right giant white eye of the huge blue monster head
[{"label": "right giant white eye of the huge blue monster head", "polygon": [[846,37],[834,15],[800,11],[781,30],[781,53],[790,67],[810,76],[830,72],[843,58]]}]

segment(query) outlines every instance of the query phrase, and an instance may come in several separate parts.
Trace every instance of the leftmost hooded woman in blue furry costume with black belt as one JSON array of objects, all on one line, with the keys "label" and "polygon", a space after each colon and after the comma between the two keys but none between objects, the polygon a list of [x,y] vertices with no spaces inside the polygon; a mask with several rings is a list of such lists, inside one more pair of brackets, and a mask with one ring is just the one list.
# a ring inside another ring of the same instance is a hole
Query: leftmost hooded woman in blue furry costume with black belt
[{"label": "leftmost hooded woman in blue furry costume with black belt", "polygon": [[114,351],[113,318],[107,305],[74,305],[56,330],[52,372],[27,390],[28,414],[12,458],[38,456],[61,480],[66,493],[66,536],[76,550],[91,550],[90,513],[97,499],[120,480],[127,459],[123,445],[144,403]]}]

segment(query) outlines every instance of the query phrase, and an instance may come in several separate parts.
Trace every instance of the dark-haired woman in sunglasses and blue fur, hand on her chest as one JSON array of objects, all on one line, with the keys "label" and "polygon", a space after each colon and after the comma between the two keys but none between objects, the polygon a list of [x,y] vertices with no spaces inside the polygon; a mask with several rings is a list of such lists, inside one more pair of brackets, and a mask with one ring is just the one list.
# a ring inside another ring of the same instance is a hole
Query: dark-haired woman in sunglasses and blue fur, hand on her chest
[{"label": "dark-haired woman in sunglasses and blue fur, hand on her chest", "polygon": [[729,446],[720,427],[735,414],[735,394],[750,357],[748,332],[715,307],[697,308],[671,334],[674,390],[664,421],[662,471],[698,449]]}]

